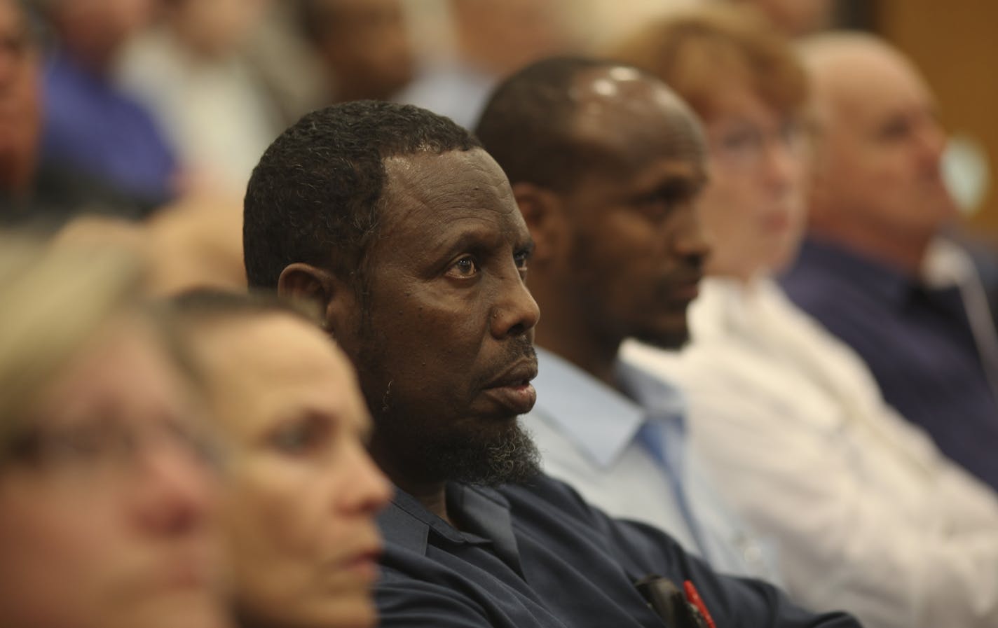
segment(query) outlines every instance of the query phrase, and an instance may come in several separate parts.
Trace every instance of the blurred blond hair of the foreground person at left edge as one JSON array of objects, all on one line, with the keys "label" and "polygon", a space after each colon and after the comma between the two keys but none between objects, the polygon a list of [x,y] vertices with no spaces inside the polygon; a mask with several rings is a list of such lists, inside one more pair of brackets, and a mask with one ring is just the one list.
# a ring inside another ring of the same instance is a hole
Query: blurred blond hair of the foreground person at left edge
[{"label": "blurred blond hair of the foreground person at left edge", "polygon": [[0,462],[65,363],[138,303],[142,279],[119,249],[0,233]]}]

